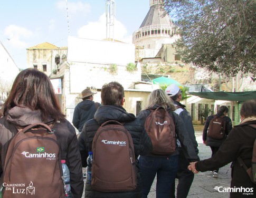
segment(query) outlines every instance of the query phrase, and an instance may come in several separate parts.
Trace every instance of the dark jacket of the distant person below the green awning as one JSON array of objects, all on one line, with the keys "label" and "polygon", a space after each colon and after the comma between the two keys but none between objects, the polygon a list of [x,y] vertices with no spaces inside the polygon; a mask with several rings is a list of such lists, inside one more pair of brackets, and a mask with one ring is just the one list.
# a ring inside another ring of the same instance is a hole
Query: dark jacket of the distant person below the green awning
[{"label": "dark jacket of the distant person below the green awning", "polygon": [[[220,116],[223,116],[224,114],[223,113],[217,113],[216,115],[217,115],[217,117],[220,117]],[[207,140],[207,143],[206,143],[207,146],[210,146],[210,147],[220,147],[221,144],[225,141],[225,139],[226,139],[227,135],[229,134],[229,132],[232,130],[232,121],[227,116],[222,118],[226,122],[225,136],[221,140],[216,140],[216,139],[212,139],[212,138],[207,137],[208,127],[209,127],[210,121],[213,118],[214,118],[213,115],[212,116],[208,116],[206,121],[205,121],[204,130],[203,130],[203,141]]]}]

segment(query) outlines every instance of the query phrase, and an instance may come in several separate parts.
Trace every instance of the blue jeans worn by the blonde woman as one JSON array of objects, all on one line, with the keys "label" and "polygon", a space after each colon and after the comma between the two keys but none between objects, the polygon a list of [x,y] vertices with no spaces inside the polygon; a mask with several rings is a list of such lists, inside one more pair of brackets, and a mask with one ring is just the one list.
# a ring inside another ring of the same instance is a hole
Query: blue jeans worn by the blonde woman
[{"label": "blue jeans worn by the blonde woman", "polygon": [[147,198],[157,175],[156,198],[169,198],[178,171],[178,155],[170,157],[140,156],[143,198]]}]

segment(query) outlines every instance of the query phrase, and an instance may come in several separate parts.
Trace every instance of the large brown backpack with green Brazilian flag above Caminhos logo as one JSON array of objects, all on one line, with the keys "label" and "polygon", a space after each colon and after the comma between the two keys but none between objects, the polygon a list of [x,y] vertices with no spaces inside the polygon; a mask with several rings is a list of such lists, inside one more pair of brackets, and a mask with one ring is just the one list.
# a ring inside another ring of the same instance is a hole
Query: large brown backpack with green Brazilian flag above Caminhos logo
[{"label": "large brown backpack with green Brazilian flag above Caminhos logo", "polygon": [[3,197],[64,198],[60,160],[59,144],[48,125],[38,123],[25,127],[8,146]]}]

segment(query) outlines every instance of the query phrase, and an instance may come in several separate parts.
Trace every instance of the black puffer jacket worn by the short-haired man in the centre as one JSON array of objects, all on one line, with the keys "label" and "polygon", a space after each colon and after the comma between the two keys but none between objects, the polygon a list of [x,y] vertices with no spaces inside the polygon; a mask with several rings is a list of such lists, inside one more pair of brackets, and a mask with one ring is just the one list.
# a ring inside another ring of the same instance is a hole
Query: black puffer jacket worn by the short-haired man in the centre
[{"label": "black puffer jacket worn by the short-haired man in the centre", "polygon": [[[91,151],[92,140],[100,125],[108,120],[117,120],[124,123],[125,128],[130,132],[132,141],[134,142],[134,150],[136,158],[138,155],[148,154],[152,150],[152,143],[148,137],[143,124],[139,122],[134,114],[128,113],[121,106],[103,105],[98,108],[91,119],[84,124],[82,133],[79,137],[79,147],[82,157],[82,165],[86,166],[86,158],[88,152]],[[106,164],[107,165],[107,164]],[[106,193],[95,191],[90,185],[86,185],[85,197],[87,198],[139,198],[141,197],[141,175],[138,169],[137,173],[137,189],[128,192]]]}]

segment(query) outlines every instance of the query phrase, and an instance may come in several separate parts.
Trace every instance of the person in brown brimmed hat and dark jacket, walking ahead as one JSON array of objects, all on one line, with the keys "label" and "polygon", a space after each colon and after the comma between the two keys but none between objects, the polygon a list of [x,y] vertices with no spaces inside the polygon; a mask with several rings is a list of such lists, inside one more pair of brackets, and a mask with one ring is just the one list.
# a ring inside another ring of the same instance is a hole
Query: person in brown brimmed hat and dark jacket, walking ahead
[{"label": "person in brown brimmed hat and dark jacket, walking ahead", "polygon": [[93,101],[93,95],[97,92],[92,92],[90,88],[86,88],[82,91],[83,101],[79,102],[74,108],[72,123],[75,128],[78,129],[78,135],[81,133],[84,123],[94,117],[94,113],[97,111],[98,107],[101,106],[99,102]]}]

